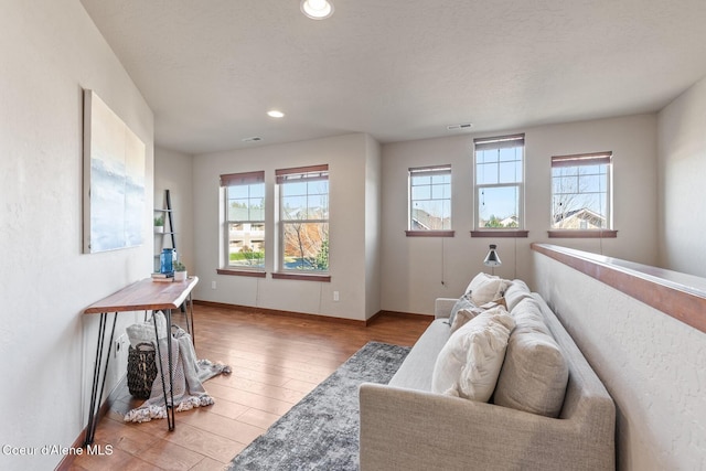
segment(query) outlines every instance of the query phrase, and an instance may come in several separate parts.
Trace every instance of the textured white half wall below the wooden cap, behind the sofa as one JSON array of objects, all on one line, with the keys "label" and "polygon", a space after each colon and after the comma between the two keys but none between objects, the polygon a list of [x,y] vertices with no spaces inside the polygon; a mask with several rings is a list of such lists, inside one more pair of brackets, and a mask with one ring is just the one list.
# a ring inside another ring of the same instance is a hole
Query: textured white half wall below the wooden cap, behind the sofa
[{"label": "textured white half wall below the wooden cap, behind the sofa", "polygon": [[535,289],[616,402],[618,469],[706,469],[706,334],[533,254]]}]

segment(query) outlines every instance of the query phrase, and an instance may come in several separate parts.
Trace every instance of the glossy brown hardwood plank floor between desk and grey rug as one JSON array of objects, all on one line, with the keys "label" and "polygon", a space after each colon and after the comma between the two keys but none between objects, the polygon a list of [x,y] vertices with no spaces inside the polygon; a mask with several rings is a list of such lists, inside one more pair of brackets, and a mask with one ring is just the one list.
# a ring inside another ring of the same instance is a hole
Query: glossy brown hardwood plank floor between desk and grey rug
[{"label": "glossy brown hardwood plank floor between desk and grey rug", "polygon": [[[431,322],[424,315],[384,313],[367,327],[194,307],[199,358],[231,365],[231,375],[204,386],[215,404],[178,413],[167,421],[126,424],[140,403],[127,387],[98,424],[94,445],[111,454],[76,457],[73,470],[221,470],[250,441],[325,379],[368,341],[411,345]],[[174,322],[180,323],[179,314]]]}]

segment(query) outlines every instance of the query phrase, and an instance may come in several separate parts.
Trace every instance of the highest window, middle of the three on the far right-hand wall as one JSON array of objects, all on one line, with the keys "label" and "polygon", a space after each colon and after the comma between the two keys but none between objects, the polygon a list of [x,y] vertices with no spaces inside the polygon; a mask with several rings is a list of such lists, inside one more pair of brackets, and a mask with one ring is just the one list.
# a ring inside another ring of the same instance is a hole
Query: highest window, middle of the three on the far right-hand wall
[{"label": "highest window, middle of the three on the far right-hand wall", "polygon": [[475,229],[523,228],[524,135],[474,139]]}]

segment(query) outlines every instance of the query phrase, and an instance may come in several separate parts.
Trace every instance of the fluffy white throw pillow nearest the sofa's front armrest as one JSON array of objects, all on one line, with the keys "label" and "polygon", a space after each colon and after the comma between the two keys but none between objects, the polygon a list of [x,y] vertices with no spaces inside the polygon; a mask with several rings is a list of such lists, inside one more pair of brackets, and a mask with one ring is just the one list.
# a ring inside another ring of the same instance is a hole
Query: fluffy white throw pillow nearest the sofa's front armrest
[{"label": "fluffy white throw pillow nearest the sofa's front armrest", "polygon": [[453,332],[437,356],[431,390],[486,403],[495,389],[514,327],[507,311],[498,307]]}]

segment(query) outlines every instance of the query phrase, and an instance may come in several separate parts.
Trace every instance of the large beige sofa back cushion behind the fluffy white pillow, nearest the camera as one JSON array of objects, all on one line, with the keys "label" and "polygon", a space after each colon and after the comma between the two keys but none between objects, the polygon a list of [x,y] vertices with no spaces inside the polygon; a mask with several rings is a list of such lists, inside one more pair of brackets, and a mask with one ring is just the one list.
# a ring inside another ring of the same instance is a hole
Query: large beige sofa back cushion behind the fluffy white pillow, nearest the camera
[{"label": "large beige sofa back cushion behind the fluffy white pillow, nearest the camera", "polygon": [[494,404],[558,417],[564,404],[569,368],[534,299],[513,310],[515,329],[510,335]]}]

